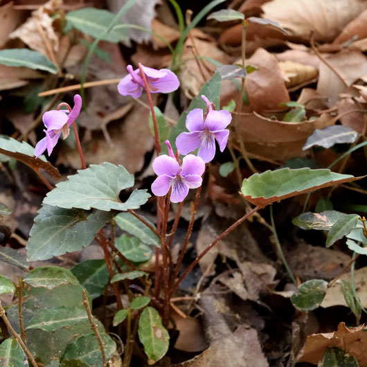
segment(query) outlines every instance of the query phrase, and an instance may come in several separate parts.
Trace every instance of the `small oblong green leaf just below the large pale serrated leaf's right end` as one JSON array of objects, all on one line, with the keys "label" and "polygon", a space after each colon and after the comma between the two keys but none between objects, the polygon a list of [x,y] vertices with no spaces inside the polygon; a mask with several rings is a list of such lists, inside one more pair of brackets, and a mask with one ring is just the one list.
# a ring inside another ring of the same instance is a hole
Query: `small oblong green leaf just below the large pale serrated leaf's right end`
[{"label": "small oblong green leaf just below the large pale serrated leaf's right end", "polygon": [[[141,217],[143,217],[143,215],[141,215]],[[154,224],[147,220],[147,218],[143,217],[143,219],[155,228]],[[130,235],[134,235],[141,240],[141,242],[145,244],[153,244],[156,247],[161,246],[161,242],[156,233],[145,226],[145,224],[138,220],[138,218],[134,217],[134,215],[130,213],[120,213],[116,215],[115,220],[120,229],[126,231]]]}]

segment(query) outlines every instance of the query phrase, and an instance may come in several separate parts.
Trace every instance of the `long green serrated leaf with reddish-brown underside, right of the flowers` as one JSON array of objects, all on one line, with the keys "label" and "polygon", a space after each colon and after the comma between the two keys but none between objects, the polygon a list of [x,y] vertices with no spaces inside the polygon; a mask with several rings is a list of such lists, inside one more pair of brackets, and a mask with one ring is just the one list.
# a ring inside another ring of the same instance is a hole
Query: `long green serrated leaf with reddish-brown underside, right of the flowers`
[{"label": "long green serrated leaf with reddish-brown underside, right of the flowers", "polygon": [[256,173],[248,179],[244,179],[241,194],[255,205],[267,206],[288,197],[361,178],[330,170],[281,168],[275,171],[267,170],[261,174]]}]

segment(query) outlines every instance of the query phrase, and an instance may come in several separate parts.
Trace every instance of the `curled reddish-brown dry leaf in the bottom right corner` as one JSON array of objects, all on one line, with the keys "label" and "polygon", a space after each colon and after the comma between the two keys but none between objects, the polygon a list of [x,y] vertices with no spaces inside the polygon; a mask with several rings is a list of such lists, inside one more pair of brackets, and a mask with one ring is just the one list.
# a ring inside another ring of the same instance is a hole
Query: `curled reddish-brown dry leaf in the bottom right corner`
[{"label": "curled reddish-brown dry leaf in the bottom right corner", "polygon": [[347,328],[345,323],[339,323],[337,332],[311,334],[307,337],[303,355],[298,362],[317,364],[327,348],[338,347],[350,353],[359,366],[367,366],[367,332],[364,325],[357,328]]}]

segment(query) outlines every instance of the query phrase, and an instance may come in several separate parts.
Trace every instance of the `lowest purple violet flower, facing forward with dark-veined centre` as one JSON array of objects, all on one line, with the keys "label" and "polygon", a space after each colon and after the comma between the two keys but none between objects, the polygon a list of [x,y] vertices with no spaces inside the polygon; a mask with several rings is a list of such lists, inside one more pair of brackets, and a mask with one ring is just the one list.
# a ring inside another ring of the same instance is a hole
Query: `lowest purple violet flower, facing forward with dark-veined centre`
[{"label": "lowest purple violet flower, facing forward with dark-veined centre", "polygon": [[174,157],[170,142],[165,143],[170,156],[162,154],[154,159],[153,170],[158,177],[152,183],[152,192],[164,196],[172,188],[171,202],[179,203],[188,195],[189,188],[198,188],[202,184],[205,163],[199,156],[188,154],[183,157],[181,165]]}]

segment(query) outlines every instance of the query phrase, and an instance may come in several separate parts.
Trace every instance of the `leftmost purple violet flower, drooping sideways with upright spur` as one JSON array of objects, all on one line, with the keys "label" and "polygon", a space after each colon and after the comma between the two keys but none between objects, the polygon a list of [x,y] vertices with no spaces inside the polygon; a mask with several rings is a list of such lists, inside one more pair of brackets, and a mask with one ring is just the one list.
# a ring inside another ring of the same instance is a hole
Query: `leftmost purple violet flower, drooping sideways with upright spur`
[{"label": "leftmost purple violet flower, drooping sideways with upright spur", "polygon": [[61,133],[63,138],[67,138],[67,136],[69,136],[69,127],[76,118],[78,118],[81,109],[82,97],[80,97],[79,94],[75,94],[74,107],[70,113],[69,111],[55,109],[44,113],[42,121],[46,126],[46,129],[44,130],[46,137],[40,140],[35,146],[35,156],[37,158],[42,155],[46,149],[48,156],[51,155]]}]

